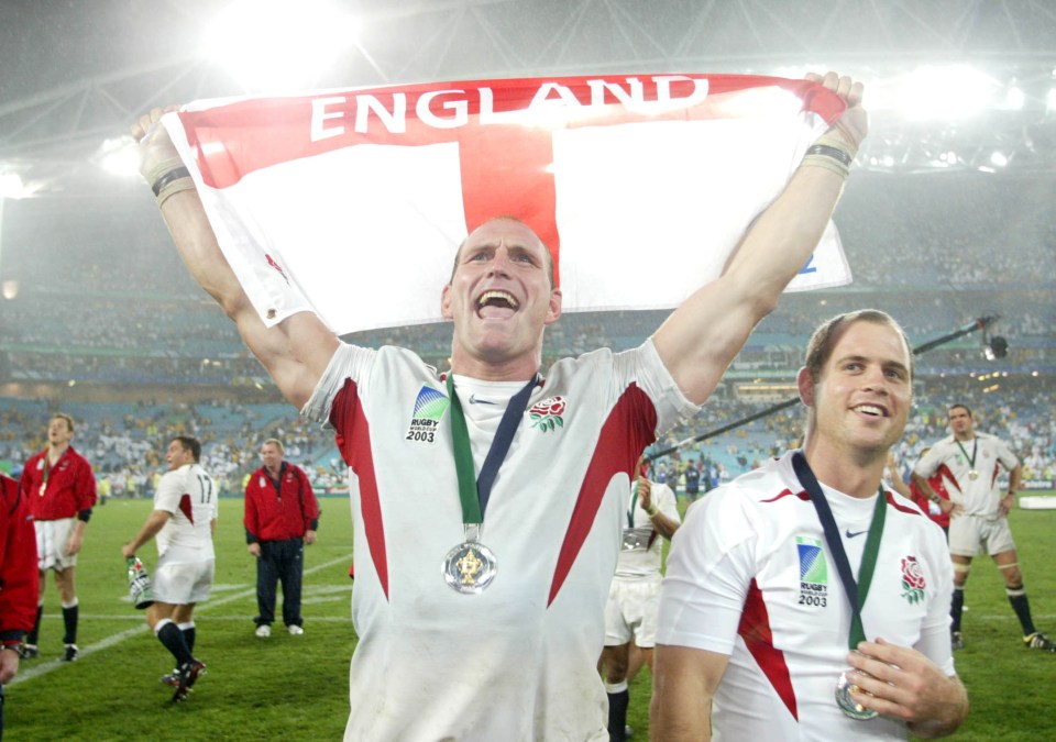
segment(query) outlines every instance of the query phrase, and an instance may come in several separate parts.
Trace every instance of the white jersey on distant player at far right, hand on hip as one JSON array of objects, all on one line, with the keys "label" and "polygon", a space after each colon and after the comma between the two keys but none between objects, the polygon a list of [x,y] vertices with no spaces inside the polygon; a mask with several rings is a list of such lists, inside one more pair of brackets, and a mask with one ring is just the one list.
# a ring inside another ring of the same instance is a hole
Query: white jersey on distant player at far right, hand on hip
[{"label": "white jersey on distant player at far right, hand on hip", "polygon": [[[913,470],[931,477],[943,464],[953,475],[952,486],[946,488],[949,499],[965,508],[965,514],[994,519],[1003,492],[998,487],[998,474],[1004,466],[1012,470],[1020,459],[1012,453],[1009,444],[996,435],[976,433],[974,441],[958,441],[953,435],[936,442],[931,451],[921,457]],[[975,453],[972,453],[975,452]],[[971,458],[975,456],[975,466]],[[971,477],[971,473],[976,477]]]}]

